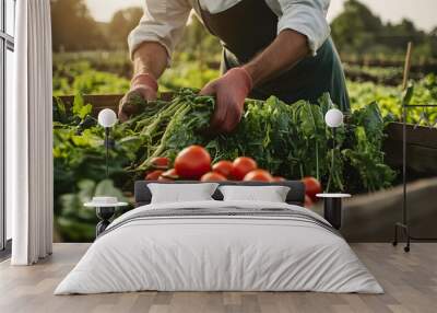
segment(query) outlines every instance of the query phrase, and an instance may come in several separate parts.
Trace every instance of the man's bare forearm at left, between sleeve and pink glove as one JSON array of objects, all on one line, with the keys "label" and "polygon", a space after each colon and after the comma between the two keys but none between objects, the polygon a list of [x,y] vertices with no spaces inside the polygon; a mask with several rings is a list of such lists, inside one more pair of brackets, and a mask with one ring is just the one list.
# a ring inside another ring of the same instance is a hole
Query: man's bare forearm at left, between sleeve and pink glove
[{"label": "man's bare forearm at left, between sleeve and pink glove", "polygon": [[133,74],[147,73],[158,79],[167,67],[167,50],[158,43],[146,42],[133,53]]}]

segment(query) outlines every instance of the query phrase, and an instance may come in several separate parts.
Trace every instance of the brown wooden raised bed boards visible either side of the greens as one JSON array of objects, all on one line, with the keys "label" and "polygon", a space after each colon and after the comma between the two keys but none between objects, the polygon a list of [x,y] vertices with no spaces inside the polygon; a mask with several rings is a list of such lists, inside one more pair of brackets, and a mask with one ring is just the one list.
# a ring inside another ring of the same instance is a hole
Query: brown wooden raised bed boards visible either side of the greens
[{"label": "brown wooden raised bed boards visible either side of the greens", "polygon": [[[103,108],[117,112],[121,94],[85,95],[85,103],[93,105],[93,115]],[[172,93],[162,93],[161,98],[169,100]],[[74,96],[60,96],[67,106],[71,106]],[[393,169],[402,169],[402,124],[391,123],[387,127],[383,151],[386,161]],[[406,126],[406,156],[411,179],[437,176],[437,128]]]}]

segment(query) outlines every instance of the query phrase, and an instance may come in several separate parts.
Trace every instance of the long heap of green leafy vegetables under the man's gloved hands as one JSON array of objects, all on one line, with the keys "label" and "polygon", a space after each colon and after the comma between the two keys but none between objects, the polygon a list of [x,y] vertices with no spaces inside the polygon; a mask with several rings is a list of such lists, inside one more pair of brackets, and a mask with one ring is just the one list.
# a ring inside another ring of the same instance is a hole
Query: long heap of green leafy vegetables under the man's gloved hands
[{"label": "long heap of green leafy vegetables under the man's gloved hands", "polygon": [[173,160],[184,148],[200,144],[214,161],[248,155],[275,175],[290,179],[315,176],[327,190],[377,190],[394,179],[394,172],[383,162],[385,121],[376,103],[350,115],[335,137],[323,118],[334,107],[328,94],[316,104],[287,105],[274,96],[247,100],[237,129],[217,136],[208,129],[214,108],[211,96],[182,89],[170,102],[139,105],[144,112],[118,125],[115,136],[120,144],[135,142],[129,171],[140,175],[150,170],[153,158]]}]

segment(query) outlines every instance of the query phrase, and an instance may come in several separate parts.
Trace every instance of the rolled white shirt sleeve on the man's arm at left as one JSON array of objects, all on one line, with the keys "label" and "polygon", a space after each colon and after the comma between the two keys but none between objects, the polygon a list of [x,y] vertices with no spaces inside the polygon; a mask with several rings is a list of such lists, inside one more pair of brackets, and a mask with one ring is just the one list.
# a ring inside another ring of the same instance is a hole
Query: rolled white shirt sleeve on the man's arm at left
[{"label": "rolled white shirt sleeve on the man's arm at left", "polygon": [[187,0],[143,1],[144,15],[128,37],[130,57],[142,43],[155,42],[167,50],[169,65],[192,8]]}]

